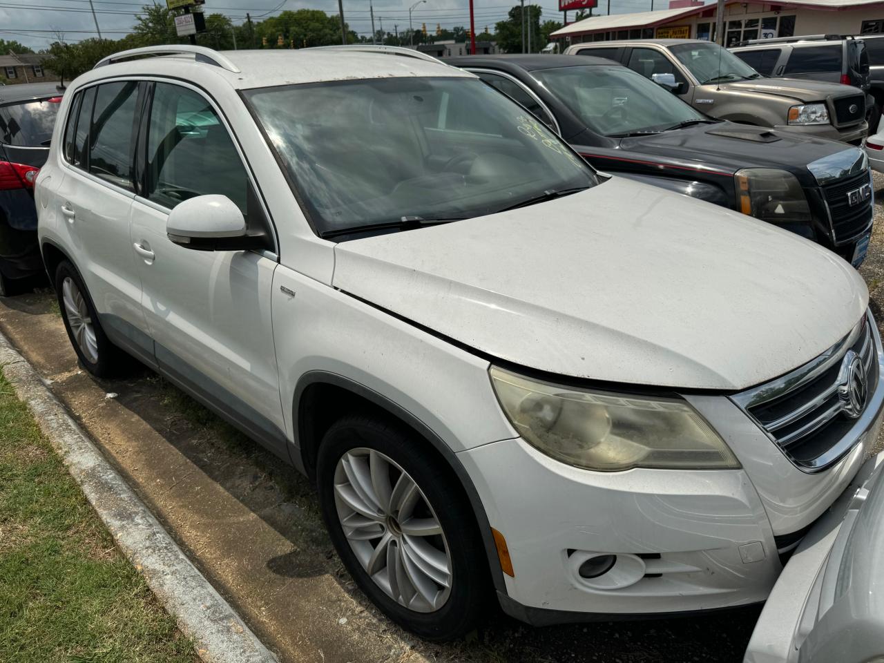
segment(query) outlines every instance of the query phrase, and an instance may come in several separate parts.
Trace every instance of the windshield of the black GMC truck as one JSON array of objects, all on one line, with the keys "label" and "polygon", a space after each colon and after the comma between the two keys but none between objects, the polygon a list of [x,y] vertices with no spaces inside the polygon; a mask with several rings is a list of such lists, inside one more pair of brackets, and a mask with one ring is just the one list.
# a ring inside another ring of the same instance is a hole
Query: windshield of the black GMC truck
[{"label": "windshield of the black GMC truck", "polygon": [[593,132],[656,133],[706,118],[657,83],[620,66],[575,66],[532,72]]}]

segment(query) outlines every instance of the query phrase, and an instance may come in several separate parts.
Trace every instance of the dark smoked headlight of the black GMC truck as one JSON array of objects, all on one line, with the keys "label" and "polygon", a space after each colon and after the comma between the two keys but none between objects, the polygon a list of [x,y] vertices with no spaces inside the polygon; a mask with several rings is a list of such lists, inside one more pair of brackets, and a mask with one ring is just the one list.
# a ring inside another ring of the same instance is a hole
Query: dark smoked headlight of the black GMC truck
[{"label": "dark smoked headlight of the black GMC truck", "polygon": [[792,173],[776,168],[743,168],[735,179],[743,214],[773,224],[810,222],[807,196]]}]

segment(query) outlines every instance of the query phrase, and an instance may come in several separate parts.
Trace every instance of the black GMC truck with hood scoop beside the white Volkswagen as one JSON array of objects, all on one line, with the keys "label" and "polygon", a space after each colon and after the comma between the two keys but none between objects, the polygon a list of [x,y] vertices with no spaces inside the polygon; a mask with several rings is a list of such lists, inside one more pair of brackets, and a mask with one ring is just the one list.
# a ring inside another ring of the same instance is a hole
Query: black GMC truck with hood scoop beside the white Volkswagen
[{"label": "black GMC truck with hood scoop beside the white Volkswagen", "polygon": [[709,118],[601,57],[475,56],[476,73],[559,133],[599,171],[742,211],[858,266],[873,224],[872,175],[842,142]]}]

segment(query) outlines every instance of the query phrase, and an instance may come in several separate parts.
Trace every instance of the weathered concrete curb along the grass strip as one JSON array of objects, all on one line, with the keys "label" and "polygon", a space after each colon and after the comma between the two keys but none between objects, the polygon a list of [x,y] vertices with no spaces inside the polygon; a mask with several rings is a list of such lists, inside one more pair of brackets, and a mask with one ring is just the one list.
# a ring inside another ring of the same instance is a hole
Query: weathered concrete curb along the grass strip
[{"label": "weathered concrete curb along the grass strip", "polygon": [[0,332],[0,366],[114,541],[210,663],[278,663]]}]

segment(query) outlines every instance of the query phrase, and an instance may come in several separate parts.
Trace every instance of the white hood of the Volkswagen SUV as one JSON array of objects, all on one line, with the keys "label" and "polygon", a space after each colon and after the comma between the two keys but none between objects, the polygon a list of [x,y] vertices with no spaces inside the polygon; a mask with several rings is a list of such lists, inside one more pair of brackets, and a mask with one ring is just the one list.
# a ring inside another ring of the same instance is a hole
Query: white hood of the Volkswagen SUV
[{"label": "white hood of the Volkswagen SUV", "polygon": [[868,301],[857,272],[810,241],[621,178],[339,243],[332,284],[532,369],[720,390],[810,361]]}]

